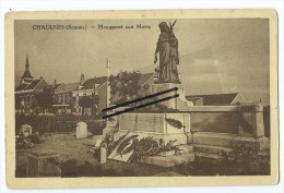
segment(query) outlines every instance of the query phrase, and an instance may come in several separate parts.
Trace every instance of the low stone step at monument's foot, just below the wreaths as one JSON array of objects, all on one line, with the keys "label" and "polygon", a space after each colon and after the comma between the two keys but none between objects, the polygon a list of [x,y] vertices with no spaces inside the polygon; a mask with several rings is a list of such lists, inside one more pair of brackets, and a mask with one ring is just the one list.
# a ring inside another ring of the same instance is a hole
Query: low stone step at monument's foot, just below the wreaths
[{"label": "low stone step at monument's foot, just below the wreaths", "polygon": [[173,166],[191,162],[193,160],[194,160],[194,154],[186,153],[186,154],[178,154],[169,157],[163,157],[163,156],[145,157],[141,160],[141,162],[169,168]]}]

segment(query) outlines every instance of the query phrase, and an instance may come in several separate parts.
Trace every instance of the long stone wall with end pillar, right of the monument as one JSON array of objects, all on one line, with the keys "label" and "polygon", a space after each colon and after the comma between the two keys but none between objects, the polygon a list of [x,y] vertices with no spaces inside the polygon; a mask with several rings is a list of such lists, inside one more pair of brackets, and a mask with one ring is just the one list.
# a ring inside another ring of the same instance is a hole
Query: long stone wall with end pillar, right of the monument
[{"label": "long stone wall with end pillar, right of the monument", "polygon": [[261,104],[200,106],[189,108],[191,131],[264,136]]}]

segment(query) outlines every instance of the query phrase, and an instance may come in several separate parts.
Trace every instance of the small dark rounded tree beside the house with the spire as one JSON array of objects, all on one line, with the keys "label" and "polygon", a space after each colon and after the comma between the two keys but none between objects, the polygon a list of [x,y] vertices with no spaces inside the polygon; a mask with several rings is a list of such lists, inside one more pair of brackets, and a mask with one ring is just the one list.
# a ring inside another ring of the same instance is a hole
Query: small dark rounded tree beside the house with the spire
[{"label": "small dark rounded tree beside the house with the spire", "polygon": [[43,92],[36,94],[37,106],[49,110],[54,102],[54,88],[51,86],[47,86],[43,89]]}]

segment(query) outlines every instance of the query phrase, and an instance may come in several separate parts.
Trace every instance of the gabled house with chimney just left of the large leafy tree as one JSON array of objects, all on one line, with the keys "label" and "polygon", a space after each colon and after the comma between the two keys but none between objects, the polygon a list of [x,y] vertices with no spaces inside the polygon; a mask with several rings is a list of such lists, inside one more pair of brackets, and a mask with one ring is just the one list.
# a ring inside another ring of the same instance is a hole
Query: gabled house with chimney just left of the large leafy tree
[{"label": "gabled house with chimney just left of the large leafy tree", "polygon": [[72,92],[73,114],[97,114],[107,106],[107,76],[93,77],[84,81]]}]

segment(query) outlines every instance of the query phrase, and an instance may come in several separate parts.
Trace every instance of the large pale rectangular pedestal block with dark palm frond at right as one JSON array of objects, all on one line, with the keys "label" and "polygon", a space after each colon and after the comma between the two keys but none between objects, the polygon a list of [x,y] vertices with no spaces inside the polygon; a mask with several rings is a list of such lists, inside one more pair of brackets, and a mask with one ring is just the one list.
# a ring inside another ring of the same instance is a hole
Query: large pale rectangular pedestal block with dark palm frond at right
[{"label": "large pale rectangular pedestal block with dark palm frond at right", "polygon": [[189,113],[123,113],[120,114],[119,133],[134,132],[143,136],[153,136],[159,142],[177,141],[187,144],[190,133]]}]

